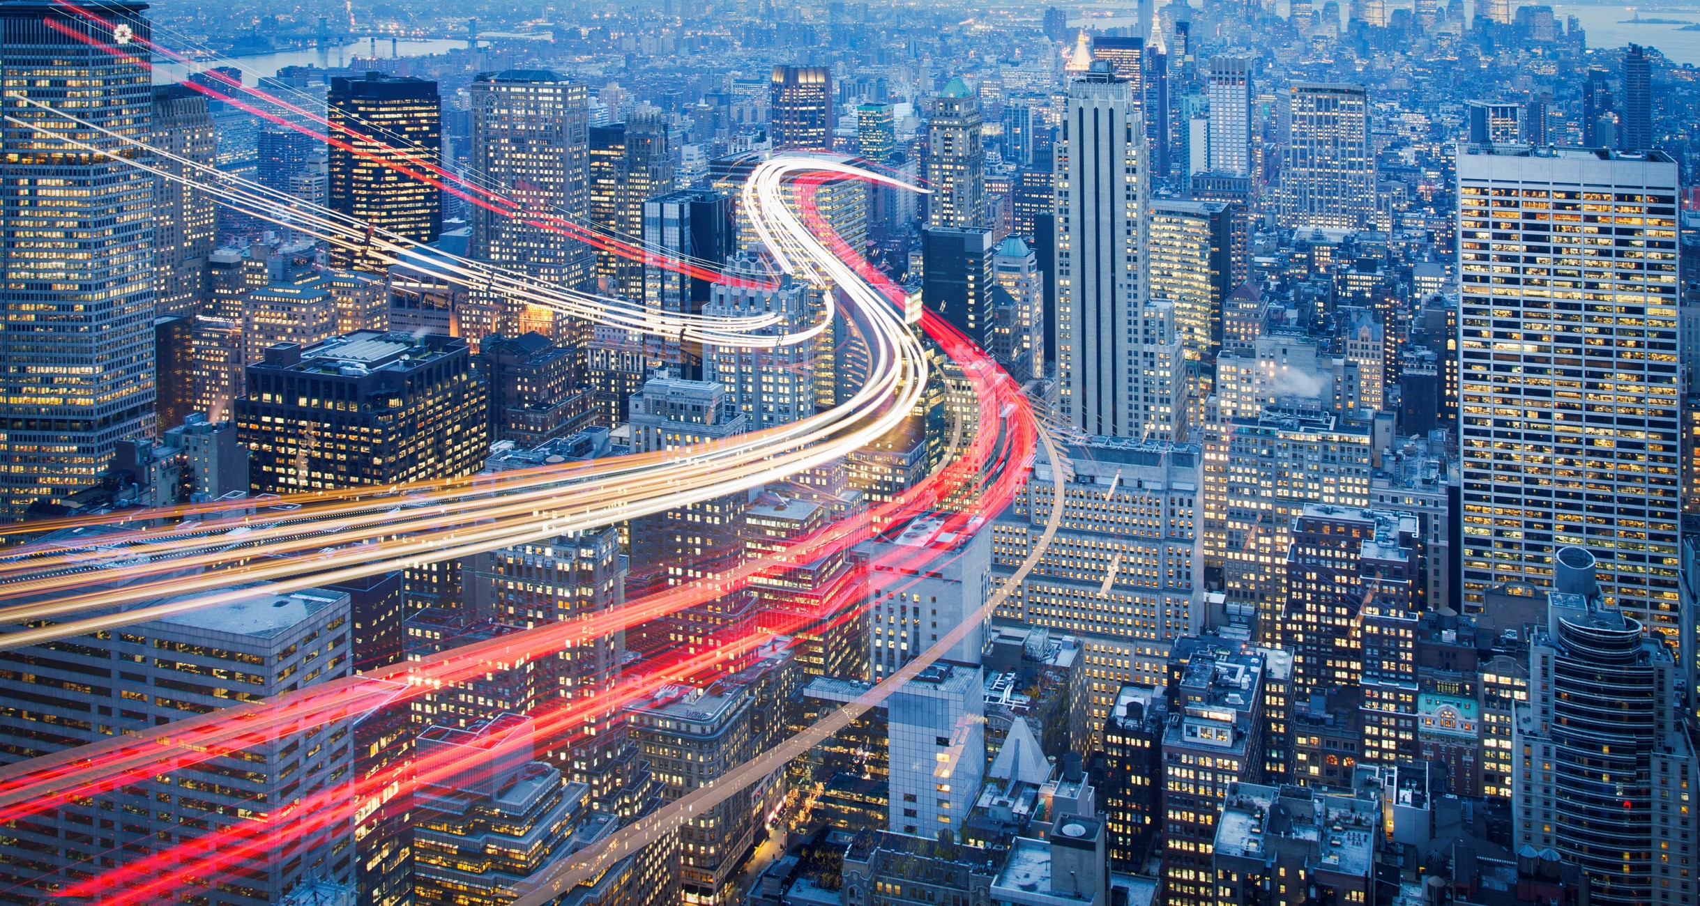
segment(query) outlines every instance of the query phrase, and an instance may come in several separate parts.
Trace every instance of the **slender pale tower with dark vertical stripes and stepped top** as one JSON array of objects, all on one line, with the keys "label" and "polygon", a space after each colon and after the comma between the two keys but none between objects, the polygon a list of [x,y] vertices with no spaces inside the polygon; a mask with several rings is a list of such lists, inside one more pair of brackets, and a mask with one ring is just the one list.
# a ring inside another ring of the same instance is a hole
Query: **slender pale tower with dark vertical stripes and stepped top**
[{"label": "slender pale tower with dark vertical stripes and stepped top", "polygon": [[1139,437],[1144,121],[1105,61],[1069,83],[1056,144],[1056,343],[1062,420],[1086,433]]}]

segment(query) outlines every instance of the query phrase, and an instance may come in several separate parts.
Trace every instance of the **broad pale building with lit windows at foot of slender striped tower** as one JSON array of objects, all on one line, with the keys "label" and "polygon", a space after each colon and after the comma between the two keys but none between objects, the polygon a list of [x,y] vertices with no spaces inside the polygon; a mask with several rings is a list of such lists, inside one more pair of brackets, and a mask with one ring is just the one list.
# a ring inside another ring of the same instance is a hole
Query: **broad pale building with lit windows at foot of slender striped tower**
[{"label": "broad pale building with lit windows at foot of slender striped tower", "polygon": [[993,580],[1003,583],[1032,551],[1062,488],[1064,527],[996,617],[1081,639],[1096,675],[1076,707],[1086,709],[1098,745],[1120,683],[1163,685],[1170,646],[1204,627],[1202,454],[1185,444],[1095,437],[1064,456],[1068,471],[1040,462],[1010,513],[993,524]]}]

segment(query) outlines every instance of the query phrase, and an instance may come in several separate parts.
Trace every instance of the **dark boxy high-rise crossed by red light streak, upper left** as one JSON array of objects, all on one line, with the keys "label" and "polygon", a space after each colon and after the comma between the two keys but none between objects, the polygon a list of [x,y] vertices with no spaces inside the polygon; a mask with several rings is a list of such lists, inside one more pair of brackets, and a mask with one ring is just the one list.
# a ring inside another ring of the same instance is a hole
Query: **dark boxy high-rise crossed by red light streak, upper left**
[{"label": "dark boxy high-rise crossed by red light streak, upper left", "polygon": [[[437,83],[382,73],[337,76],[330,82],[326,110],[332,129],[345,138],[326,151],[330,209],[408,241],[435,241],[442,231],[442,190],[400,168],[418,173],[420,165],[440,163]],[[376,255],[345,245],[332,245],[330,262],[372,274],[388,267]]]}]

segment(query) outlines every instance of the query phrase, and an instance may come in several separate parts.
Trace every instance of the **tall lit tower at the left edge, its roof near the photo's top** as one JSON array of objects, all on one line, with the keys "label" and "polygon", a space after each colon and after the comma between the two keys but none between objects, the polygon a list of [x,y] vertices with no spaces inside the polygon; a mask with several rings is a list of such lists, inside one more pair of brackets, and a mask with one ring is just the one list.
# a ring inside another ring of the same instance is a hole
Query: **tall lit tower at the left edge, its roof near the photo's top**
[{"label": "tall lit tower at the left edge, its roof near the photo's top", "polygon": [[[143,8],[117,3],[105,15],[146,39]],[[12,117],[60,134],[65,121],[53,110],[65,110],[117,133],[78,133],[114,155],[126,141],[148,141],[148,63],[112,44],[110,25],[24,2],[0,7],[0,24],[7,34],[0,65],[19,83]],[[156,270],[153,218],[124,214],[151,211],[153,177],[17,122],[7,122],[3,134],[15,160],[5,163],[0,185],[7,275],[0,360],[10,376],[0,403],[0,505],[15,520],[37,500],[95,484],[112,445],[151,428]],[[37,182],[63,189],[37,194]],[[39,250],[61,246],[83,252]]]}]

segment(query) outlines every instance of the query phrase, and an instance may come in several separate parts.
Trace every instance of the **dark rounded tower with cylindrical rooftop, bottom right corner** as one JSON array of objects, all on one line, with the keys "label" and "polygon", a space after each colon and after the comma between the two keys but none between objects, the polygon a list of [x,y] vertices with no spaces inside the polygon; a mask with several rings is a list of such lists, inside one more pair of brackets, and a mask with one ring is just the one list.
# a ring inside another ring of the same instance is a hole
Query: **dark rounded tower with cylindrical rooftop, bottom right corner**
[{"label": "dark rounded tower with cylindrical rooftop, bottom right corner", "polygon": [[1654,627],[1601,598],[1586,549],[1559,547],[1552,566],[1513,724],[1515,843],[1579,865],[1590,903],[1693,901],[1700,763],[1680,705],[1686,670],[1644,636]]}]

